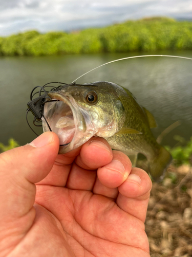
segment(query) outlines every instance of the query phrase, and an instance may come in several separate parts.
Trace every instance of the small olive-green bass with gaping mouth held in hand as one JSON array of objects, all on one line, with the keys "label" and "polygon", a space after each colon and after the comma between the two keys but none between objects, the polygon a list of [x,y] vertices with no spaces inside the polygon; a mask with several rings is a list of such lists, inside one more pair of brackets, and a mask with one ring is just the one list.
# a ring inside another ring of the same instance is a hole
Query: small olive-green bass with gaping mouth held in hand
[{"label": "small olive-green bass with gaping mouth held in hand", "polygon": [[[91,137],[104,138],[127,156],[143,154],[154,181],[161,181],[172,156],[157,143],[153,115],[126,88],[107,81],[65,85],[48,93],[42,127],[59,137],[59,154],[78,148]],[[55,101],[53,101],[55,100]],[[47,121],[46,121],[47,120]]]}]

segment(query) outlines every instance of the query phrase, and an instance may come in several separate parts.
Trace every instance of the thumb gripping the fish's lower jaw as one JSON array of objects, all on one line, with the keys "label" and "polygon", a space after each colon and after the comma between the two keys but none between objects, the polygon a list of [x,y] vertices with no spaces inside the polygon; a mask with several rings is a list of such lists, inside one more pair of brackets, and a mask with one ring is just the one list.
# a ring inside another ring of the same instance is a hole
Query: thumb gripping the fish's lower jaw
[{"label": "thumb gripping the fish's lower jaw", "polygon": [[51,171],[58,154],[59,139],[46,132],[30,144],[0,155],[0,221],[22,217],[33,207],[36,186]]}]

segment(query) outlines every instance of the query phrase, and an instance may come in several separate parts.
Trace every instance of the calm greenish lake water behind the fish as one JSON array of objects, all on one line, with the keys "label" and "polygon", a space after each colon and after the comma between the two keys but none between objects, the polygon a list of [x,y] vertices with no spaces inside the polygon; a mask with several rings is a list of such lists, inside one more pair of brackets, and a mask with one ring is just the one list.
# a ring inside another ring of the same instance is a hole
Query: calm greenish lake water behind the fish
[{"label": "calm greenish lake water behind the fish", "polygon": [[[31,142],[36,136],[26,122],[27,102],[33,87],[52,81],[71,83],[77,77],[105,62],[141,53],[105,53],[54,57],[0,58],[0,142],[14,138],[19,144]],[[148,54],[148,53],[142,53]],[[150,54],[152,54],[150,52]],[[161,51],[192,58],[192,51]],[[139,104],[155,117],[155,137],[166,127],[180,120],[181,125],[163,139],[174,146],[174,135],[186,140],[192,136],[192,61],[176,58],[150,57],[124,60],[98,68],[79,79],[78,83],[112,81],[128,88]],[[32,123],[32,114],[29,121]],[[35,131],[40,134],[41,128]]]}]

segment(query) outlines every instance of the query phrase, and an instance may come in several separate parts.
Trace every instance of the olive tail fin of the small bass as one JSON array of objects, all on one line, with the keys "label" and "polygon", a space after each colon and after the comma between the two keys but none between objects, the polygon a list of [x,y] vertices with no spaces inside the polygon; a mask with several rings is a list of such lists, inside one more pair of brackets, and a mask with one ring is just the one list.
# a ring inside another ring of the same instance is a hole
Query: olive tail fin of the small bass
[{"label": "olive tail fin of the small bass", "polygon": [[164,178],[166,169],[171,161],[172,156],[161,146],[158,156],[148,162],[148,170],[154,181],[160,182]]}]

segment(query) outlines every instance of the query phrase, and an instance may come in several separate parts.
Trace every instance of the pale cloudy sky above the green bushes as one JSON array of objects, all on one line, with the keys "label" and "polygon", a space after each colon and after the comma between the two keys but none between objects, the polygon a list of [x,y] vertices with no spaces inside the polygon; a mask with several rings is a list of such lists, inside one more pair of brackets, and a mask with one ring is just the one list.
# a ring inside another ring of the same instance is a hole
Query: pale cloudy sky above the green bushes
[{"label": "pale cloudy sky above the green bushes", "polygon": [[78,30],[147,16],[192,20],[192,0],[0,0],[0,35]]}]

